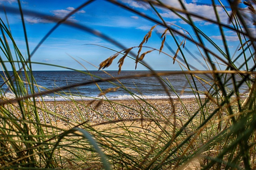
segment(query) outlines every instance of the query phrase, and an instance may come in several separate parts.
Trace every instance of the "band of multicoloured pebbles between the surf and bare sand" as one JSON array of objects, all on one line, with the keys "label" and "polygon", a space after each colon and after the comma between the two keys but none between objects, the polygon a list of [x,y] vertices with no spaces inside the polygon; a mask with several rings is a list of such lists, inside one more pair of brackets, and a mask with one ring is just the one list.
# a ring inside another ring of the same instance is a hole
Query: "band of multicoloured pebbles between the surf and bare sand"
[{"label": "band of multicoloured pebbles between the surf and bare sand", "polygon": [[97,124],[106,121],[131,120],[143,118],[186,120],[199,107],[195,99],[172,100],[84,100],[84,101],[45,101],[37,102],[40,121],[45,123]]}]

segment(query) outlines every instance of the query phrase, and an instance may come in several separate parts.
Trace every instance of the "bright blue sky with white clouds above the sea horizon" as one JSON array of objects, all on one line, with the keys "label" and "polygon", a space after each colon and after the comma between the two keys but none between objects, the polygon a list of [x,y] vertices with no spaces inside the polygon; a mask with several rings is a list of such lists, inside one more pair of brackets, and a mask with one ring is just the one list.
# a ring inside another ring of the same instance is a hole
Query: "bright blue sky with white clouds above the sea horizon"
[{"label": "bright blue sky with white clouds above the sea horizon", "polygon": [[[63,18],[84,2],[86,1],[22,0],[21,6],[24,11],[29,10],[32,12],[46,14],[48,16]],[[134,0],[119,0],[118,2],[158,21],[161,21],[156,12],[154,12],[148,4],[143,4],[143,2]],[[163,0],[162,2],[178,9],[181,8],[178,0]],[[211,0],[183,0],[183,2],[189,12],[216,20],[214,10],[211,6]],[[222,1],[222,3],[224,6],[228,6],[226,1]],[[216,4],[220,5],[220,3],[217,1]],[[8,11],[7,9],[7,15],[5,16],[2,10],[2,6],[18,8],[18,2],[16,0],[0,0],[0,6],[1,19],[4,21],[4,23],[7,23],[7,16],[12,36],[20,49],[20,52],[25,58],[28,57],[20,14],[14,14],[14,12]],[[245,6],[240,4],[240,8],[245,8]],[[226,9],[227,12],[230,13],[230,8]],[[194,31],[191,29],[191,27],[183,20],[178,18],[174,13],[170,12],[170,10],[163,8],[157,8],[157,10],[162,18],[171,25],[171,27],[184,35],[188,35],[187,33],[190,33],[189,35],[191,38],[196,39]],[[221,21],[227,24],[228,17],[224,9],[218,6],[217,11]],[[36,45],[38,45],[42,38],[56,25],[56,23],[34,15],[25,15],[24,20],[29,50],[31,53]],[[198,18],[193,18],[193,20],[196,26],[201,29],[212,41],[214,41],[221,49],[224,48],[220,31],[215,24]],[[114,41],[120,43],[122,47],[106,41],[106,39],[102,39],[102,37],[94,35],[92,32],[81,30],[67,24],[61,24],[50,34],[42,45],[40,45],[39,49],[33,54],[31,58],[32,61],[41,63],[33,64],[33,70],[65,70],[64,68],[49,66],[48,64],[56,64],[78,70],[98,70],[99,64],[108,57],[114,55],[116,53],[115,51],[122,51],[124,49],[140,45],[150,28],[156,25],[156,23],[146,20],[145,18],[131,11],[125,10],[116,4],[112,4],[107,0],[92,1],[84,8],[76,12],[76,14],[72,15],[68,19],[68,22],[72,22],[76,25],[82,25],[86,28],[94,30],[95,33],[100,32],[102,35],[107,35]],[[255,26],[250,25],[250,29],[254,31],[253,33],[255,33]],[[240,46],[238,37],[234,31],[228,29],[224,29],[224,31],[230,53],[231,55],[235,55],[237,48]],[[163,38],[160,38],[163,32],[163,27],[159,25],[156,26],[154,31],[152,31],[152,36],[145,45],[159,49],[163,40]],[[0,36],[2,38],[2,35]],[[176,37],[178,44],[180,44],[182,40],[184,42],[183,37],[179,36],[178,34],[174,36]],[[182,68],[178,62],[173,64],[172,57],[174,57],[178,47],[170,33],[167,33],[165,42],[171,47],[171,49],[168,49],[167,46],[164,46],[162,51],[166,54],[159,54],[158,51],[152,51],[151,53],[148,53],[146,57],[144,57],[143,62],[154,70],[181,70]],[[212,47],[207,41],[205,41],[205,45],[210,50],[218,54],[216,48]],[[208,69],[207,64],[205,64],[204,59],[200,54],[200,50],[198,50],[193,43],[186,40],[185,47],[187,51],[184,49],[184,55],[191,66],[194,66],[195,69],[199,70]],[[142,53],[148,50],[150,49],[143,48]],[[138,48],[134,48],[132,52],[137,53]],[[0,55],[3,57],[3,53],[0,53]],[[130,56],[133,57],[132,55]],[[122,55],[119,55],[113,61],[113,63],[106,68],[106,70],[118,70],[118,60],[121,57]],[[181,57],[181,54],[178,53],[178,59]],[[134,69],[134,59],[126,58],[122,66],[122,70]],[[147,70],[148,68],[142,64],[138,64],[136,69]]]}]

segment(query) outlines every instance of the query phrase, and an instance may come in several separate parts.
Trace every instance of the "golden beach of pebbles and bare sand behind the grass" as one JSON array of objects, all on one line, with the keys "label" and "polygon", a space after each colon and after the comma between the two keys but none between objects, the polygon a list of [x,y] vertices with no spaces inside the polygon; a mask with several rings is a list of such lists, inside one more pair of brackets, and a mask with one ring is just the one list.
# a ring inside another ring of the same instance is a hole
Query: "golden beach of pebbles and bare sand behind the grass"
[{"label": "golden beach of pebbles and bare sand behind the grass", "polygon": [[[170,100],[146,100],[146,102],[140,100],[111,100],[109,102],[101,102],[99,100],[76,102],[48,101],[45,102],[48,110],[68,119],[55,117],[51,114],[49,114],[49,117],[44,116],[47,117],[47,124],[50,123],[49,119],[51,119],[51,123],[54,124],[56,122],[56,127],[60,129],[70,129],[72,126],[77,125],[78,122],[88,121],[91,124],[90,128],[94,128],[96,131],[104,131],[106,134],[111,132],[119,135],[127,135],[127,130],[129,130],[130,133],[136,133],[140,139],[144,139],[146,137],[145,134],[148,133],[149,136],[154,133],[160,134],[163,130],[160,127],[164,127],[165,130],[172,132],[172,126],[166,126],[165,123],[166,120],[173,123],[173,106],[177,119],[175,126],[180,127],[181,121],[184,122],[188,119],[189,115],[185,113],[181,102],[177,99],[172,100],[172,102]],[[195,99],[182,99],[182,102],[191,114],[198,109]],[[143,122],[140,121],[142,115],[144,117]],[[158,123],[161,125],[156,125],[156,122],[150,121],[150,118],[158,119]],[[91,133],[94,134],[93,132]],[[141,135],[139,135],[140,133]],[[156,140],[155,138],[153,139]],[[132,150],[129,148],[124,150],[124,152],[132,153]],[[198,160],[193,160],[184,167],[190,167],[190,169],[196,170],[200,169],[200,163]]]}]

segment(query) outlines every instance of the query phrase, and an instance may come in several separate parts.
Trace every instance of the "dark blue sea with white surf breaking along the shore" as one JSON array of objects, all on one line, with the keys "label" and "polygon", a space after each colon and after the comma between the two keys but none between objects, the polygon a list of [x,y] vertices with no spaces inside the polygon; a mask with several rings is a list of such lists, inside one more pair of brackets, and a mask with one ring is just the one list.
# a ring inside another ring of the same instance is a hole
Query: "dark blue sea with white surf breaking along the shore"
[{"label": "dark blue sea with white surf breaking along the shore", "polygon": [[[160,71],[159,71],[160,72]],[[161,71],[164,72],[164,71]],[[167,99],[170,95],[172,98],[194,98],[195,86],[190,75],[184,74],[170,74],[167,76],[161,76],[161,80],[154,76],[145,77],[132,77],[123,78],[108,82],[93,82],[100,80],[101,78],[113,77],[126,77],[139,74],[148,74],[150,71],[33,71],[34,79],[39,88],[35,88],[35,92],[43,92],[48,90],[58,90],[55,93],[43,94],[42,98],[46,101],[52,100],[92,100],[95,98],[107,98],[108,100],[129,100],[134,98],[143,99]],[[4,72],[0,72],[4,76]],[[24,75],[24,72],[21,74]],[[93,76],[92,76],[93,75]],[[204,96],[204,92],[210,89],[210,85],[206,82],[212,83],[210,74],[198,74],[198,78],[195,78],[197,90],[201,96]],[[239,77],[238,77],[239,78]],[[206,80],[204,82],[203,80]],[[88,83],[82,86],[73,88],[66,88],[60,90],[62,87],[72,86],[74,84]],[[0,80],[2,85],[4,80]],[[232,89],[232,82],[229,87]],[[168,93],[166,92],[166,89]],[[248,93],[246,84],[243,84],[240,88],[241,93]],[[2,86],[2,92],[4,92],[7,98],[14,98],[14,94],[8,88],[8,86]],[[30,93],[30,92],[29,92]],[[3,94],[3,93],[2,93]],[[103,95],[104,94],[104,95]]]}]

